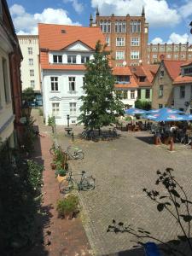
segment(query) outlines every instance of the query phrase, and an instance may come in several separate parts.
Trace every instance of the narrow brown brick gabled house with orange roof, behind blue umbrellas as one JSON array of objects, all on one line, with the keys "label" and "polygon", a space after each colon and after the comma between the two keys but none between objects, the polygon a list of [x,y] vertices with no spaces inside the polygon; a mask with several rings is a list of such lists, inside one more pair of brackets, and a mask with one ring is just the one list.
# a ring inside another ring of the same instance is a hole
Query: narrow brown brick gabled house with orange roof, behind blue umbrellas
[{"label": "narrow brown brick gabled house with orange roof, behind blue umbrellas", "polygon": [[180,73],[180,66],[184,61],[166,61],[160,62],[160,67],[154,76],[152,86],[152,108],[172,108],[174,79]]}]

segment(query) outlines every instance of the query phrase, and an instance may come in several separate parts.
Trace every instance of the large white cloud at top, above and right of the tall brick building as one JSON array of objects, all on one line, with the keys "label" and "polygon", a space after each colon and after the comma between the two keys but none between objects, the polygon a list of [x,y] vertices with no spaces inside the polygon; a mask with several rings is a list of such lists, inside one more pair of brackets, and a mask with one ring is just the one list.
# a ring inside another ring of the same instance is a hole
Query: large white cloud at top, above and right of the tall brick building
[{"label": "large white cloud at top, above and right of the tall brick building", "polygon": [[101,15],[141,15],[142,7],[150,26],[175,26],[181,21],[177,9],[171,8],[166,0],[91,0],[93,8]]}]

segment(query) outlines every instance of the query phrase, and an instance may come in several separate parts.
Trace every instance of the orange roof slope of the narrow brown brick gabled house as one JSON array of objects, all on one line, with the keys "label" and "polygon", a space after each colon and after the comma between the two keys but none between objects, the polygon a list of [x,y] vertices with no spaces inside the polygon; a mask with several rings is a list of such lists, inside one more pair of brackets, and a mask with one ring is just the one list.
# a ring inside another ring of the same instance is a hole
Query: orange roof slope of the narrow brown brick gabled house
[{"label": "orange roof slope of the narrow brown brick gabled house", "polygon": [[181,73],[181,65],[185,61],[166,61],[166,60],[164,60],[163,62],[166,66],[166,70],[169,73],[170,77],[172,78],[172,80],[174,80]]}]

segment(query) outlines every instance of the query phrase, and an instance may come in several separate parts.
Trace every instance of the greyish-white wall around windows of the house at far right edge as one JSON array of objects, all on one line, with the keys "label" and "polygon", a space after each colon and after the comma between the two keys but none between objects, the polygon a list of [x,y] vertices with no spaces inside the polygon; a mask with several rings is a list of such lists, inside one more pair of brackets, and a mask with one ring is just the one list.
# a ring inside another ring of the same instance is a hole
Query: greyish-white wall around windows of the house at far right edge
[{"label": "greyish-white wall around windows of the house at far right edge", "polygon": [[192,84],[183,84],[185,86],[185,97],[181,98],[180,97],[180,87],[179,85],[173,85],[174,87],[174,108],[183,108],[186,113],[190,113],[190,107],[185,106],[185,102],[190,102],[191,101],[191,96],[192,96]]}]

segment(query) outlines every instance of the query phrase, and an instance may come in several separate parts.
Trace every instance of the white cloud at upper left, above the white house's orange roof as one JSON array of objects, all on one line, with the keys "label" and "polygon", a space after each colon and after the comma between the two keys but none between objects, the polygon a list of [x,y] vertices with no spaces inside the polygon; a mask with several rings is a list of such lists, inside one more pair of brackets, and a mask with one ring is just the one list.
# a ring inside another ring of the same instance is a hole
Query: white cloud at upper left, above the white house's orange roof
[{"label": "white cloud at upper left, above the white house's orange roof", "polygon": [[15,30],[18,34],[38,34],[38,23],[53,23],[63,25],[79,25],[73,23],[64,9],[47,8],[41,14],[28,14],[19,4],[14,4],[10,8]]}]

